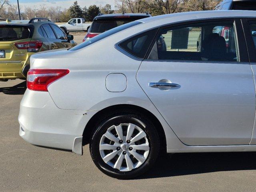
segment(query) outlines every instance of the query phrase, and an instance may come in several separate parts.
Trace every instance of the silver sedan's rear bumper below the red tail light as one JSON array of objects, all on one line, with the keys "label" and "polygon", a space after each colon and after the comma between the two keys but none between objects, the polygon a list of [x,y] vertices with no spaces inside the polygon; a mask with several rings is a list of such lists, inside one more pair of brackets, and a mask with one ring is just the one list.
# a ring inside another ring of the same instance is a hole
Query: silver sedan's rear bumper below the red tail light
[{"label": "silver sedan's rear bumper below the red tail light", "polygon": [[[85,115],[86,113],[86,115]],[[26,90],[20,103],[20,136],[27,142],[51,148],[79,151],[88,120],[96,111],[63,110],[58,108],[48,92]],[[79,152],[80,154],[80,152]]]}]

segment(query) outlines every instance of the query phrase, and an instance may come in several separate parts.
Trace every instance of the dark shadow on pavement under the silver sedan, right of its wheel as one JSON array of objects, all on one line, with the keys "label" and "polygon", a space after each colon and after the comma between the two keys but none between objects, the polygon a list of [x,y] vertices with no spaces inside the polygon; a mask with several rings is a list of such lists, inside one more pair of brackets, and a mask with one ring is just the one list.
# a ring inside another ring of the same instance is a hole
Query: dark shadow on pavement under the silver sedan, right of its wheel
[{"label": "dark shadow on pavement under the silver sedan, right of its wheel", "polygon": [[183,153],[158,158],[152,170],[136,179],[219,171],[256,170],[256,152]]}]

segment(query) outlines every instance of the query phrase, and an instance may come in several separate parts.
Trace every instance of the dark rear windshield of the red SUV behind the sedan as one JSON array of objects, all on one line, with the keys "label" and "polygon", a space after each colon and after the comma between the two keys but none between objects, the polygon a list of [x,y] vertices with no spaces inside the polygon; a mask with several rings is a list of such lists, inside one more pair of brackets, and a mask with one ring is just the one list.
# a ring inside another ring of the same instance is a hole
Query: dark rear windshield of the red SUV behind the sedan
[{"label": "dark rear windshield of the red SUV behind the sedan", "polygon": [[129,17],[129,18],[106,18],[94,20],[92,23],[92,28],[90,30],[91,33],[103,33],[112,28],[121,26],[126,23],[130,23],[132,21],[142,19],[145,17]]}]

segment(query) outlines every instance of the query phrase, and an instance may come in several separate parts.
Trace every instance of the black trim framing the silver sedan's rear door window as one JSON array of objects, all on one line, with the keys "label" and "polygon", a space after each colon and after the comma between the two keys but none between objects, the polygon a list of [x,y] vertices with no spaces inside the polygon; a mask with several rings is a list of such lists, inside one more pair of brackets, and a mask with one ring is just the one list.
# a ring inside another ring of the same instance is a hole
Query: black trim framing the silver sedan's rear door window
[{"label": "black trim framing the silver sedan's rear door window", "polygon": [[[235,30],[235,36],[236,41],[238,43],[238,52],[237,56],[239,57],[239,62],[249,62],[248,59],[248,54],[242,52],[241,50],[247,50],[246,45],[245,45],[245,39],[244,39],[244,33],[242,30],[242,24],[240,18],[214,18],[214,19],[203,19],[203,20],[195,20],[195,21],[186,21],[186,22],[178,22],[174,24],[167,24],[164,26],[161,26],[158,30],[158,33],[156,34],[153,42],[155,42],[160,35],[162,29],[164,28],[176,28],[176,27],[182,27],[186,25],[193,25],[193,24],[200,24],[200,23],[210,23],[210,22],[234,22],[234,30]],[[149,54],[152,51],[152,48],[154,46],[154,43],[151,44],[150,49],[148,50],[148,53],[146,54],[146,60],[149,58]],[[151,61],[157,61],[157,60],[151,60]],[[160,60],[158,60],[160,61]],[[177,60],[164,60],[166,62],[174,62]],[[189,60],[180,60],[180,62],[188,62]],[[204,62],[212,62],[212,61],[204,61]],[[220,61],[223,62],[223,61]],[[238,62],[232,62],[232,63],[238,63]]]}]

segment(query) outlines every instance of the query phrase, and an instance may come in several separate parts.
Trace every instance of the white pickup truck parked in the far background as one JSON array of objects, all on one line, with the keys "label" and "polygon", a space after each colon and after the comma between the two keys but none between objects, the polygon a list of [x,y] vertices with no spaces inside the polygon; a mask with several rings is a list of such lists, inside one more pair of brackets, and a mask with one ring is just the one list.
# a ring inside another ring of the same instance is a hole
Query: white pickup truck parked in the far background
[{"label": "white pickup truck parked in the far background", "polygon": [[85,22],[84,18],[70,19],[66,24],[58,25],[64,32],[70,31],[87,31],[92,22]]}]

